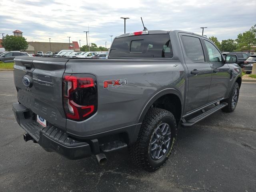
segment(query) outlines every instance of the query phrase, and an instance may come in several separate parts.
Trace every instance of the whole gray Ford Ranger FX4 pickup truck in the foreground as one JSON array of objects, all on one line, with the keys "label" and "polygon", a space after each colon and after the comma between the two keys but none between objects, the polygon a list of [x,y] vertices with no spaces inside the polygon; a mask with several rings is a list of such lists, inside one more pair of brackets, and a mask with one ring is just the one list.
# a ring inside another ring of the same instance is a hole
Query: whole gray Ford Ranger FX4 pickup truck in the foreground
[{"label": "whole gray Ford Ranger FX4 pickup truck in the foreground", "polygon": [[204,36],[151,30],[116,37],[108,59],[16,57],[13,111],[32,140],[69,159],[128,147],[147,171],[162,166],[177,126],[192,126],[238,102],[235,55]]}]

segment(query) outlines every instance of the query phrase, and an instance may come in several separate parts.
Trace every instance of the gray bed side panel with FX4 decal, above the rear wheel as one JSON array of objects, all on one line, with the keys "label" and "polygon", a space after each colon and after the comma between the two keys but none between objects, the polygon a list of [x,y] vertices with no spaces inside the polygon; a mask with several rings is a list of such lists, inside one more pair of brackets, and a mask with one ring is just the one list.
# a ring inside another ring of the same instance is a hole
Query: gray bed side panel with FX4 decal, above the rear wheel
[{"label": "gray bed side panel with FX4 decal, above the rear wheel", "polygon": [[[171,60],[70,60],[65,73],[94,74],[98,81],[98,111],[83,122],[67,120],[66,130],[86,136],[138,123],[154,94],[176,88],[184,94],[184,68]],[[127,86],[104,88],[106,80],[127,80]]]}]

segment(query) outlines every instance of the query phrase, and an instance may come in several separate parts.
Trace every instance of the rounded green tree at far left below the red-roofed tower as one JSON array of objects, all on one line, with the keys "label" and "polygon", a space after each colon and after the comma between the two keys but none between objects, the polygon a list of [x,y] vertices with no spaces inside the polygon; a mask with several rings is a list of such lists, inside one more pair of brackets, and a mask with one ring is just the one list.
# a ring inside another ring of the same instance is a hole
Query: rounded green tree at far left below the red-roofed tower
[{"label": "rounded green tree at far left below the red-roofed tower", "polygon": [[28,48],[28,42],[24,37],[6,35],[3,38],[2,46],[6,51],[20,51]]}]

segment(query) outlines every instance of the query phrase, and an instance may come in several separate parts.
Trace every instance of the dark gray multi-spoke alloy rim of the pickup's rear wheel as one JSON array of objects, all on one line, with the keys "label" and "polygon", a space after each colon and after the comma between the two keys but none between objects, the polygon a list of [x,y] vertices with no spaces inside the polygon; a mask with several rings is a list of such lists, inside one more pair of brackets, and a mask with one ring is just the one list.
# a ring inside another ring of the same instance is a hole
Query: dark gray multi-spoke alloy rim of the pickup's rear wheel
[{"label": "dark gray multi-spoke alloy rim of the pickup's rear wheel", "polygon": [[171,141],[171,128],[167,123],[160,124],[150,140],[150,156],[159,160],[166,154]]}]

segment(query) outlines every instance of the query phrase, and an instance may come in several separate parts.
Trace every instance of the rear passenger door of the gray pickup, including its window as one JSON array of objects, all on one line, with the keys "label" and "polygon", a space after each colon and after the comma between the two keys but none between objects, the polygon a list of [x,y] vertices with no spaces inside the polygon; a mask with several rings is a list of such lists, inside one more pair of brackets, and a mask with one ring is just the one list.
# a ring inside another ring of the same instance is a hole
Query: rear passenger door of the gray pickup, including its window
[{"label": "rear passenger door of the gray pickup, including its window", "polygon": [[186,113],[208,103],[212,68],[206,61],[203,42],[199,36],[180,34],[184,59],[188,68],[188,99]]}]

